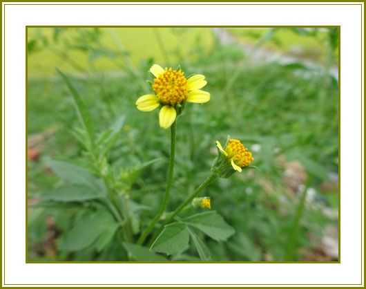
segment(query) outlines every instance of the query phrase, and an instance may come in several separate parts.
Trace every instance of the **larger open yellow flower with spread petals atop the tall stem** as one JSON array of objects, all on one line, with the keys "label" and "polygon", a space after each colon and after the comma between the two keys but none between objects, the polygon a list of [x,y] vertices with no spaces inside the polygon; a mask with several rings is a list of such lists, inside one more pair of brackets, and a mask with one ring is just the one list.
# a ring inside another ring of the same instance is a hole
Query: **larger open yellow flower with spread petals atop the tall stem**
[{"label": "larger open yellow flower with spread petals atop the tall stem", "polygon": [[140,96],[136,106],[140,111],[153,111],[162,106],[159,124],[164,129],[171,127],[177,118],[178,107],[182,107],[184,102],[202,104],[210,100],[210,93],[201,90],[207,84],[204,75],[195,74],[187,79],[180,69],[164,69],[157,64],[151,66],[150,72],[155,76],[155,94]]}]

